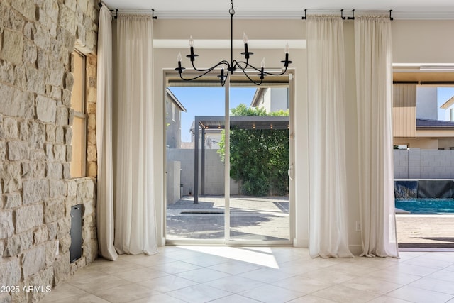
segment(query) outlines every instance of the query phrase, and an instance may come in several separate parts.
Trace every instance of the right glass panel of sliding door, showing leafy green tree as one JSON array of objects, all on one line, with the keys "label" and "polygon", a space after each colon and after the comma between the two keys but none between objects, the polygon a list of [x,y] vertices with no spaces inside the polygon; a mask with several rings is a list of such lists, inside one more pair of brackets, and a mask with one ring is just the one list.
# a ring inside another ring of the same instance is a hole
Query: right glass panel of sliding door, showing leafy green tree
[{"label": "right glass panel of sliding door, showing leafy green tree", "polygon": [[289,243],[289,87],[231,87],[229,241]]}]

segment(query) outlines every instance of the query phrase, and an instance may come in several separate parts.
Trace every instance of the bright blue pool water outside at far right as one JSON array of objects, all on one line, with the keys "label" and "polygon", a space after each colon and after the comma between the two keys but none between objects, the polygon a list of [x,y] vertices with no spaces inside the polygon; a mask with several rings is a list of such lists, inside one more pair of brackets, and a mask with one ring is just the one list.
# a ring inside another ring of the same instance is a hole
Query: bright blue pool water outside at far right
[{"label": "bright blue pool water outside at far right", "polygon": [[454,199],[396,199],[395,203],[410,214],[454,214]]}]

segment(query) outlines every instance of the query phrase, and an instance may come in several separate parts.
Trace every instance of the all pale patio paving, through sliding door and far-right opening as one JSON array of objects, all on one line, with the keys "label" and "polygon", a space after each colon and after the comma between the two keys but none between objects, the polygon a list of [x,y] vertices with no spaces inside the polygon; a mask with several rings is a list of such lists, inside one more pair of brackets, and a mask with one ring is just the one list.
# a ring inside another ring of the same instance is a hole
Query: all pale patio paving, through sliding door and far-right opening
[{"label": "all pale patio paving, through sliding door and far-right opening", "polygon": [[[224,197],[183,197],[167,206],[167,239],[223,239]],[[454,215],[396,215],[399,248],[453,248]],[[231,238],[288,240],[287,197],[231,197]]]}]

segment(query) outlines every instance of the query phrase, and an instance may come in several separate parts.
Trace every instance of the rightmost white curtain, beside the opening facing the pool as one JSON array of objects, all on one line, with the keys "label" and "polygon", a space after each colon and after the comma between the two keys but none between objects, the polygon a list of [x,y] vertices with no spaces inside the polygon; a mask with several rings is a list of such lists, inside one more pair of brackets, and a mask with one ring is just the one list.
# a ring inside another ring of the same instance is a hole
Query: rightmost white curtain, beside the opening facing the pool
[{"label": "rightmost white curtain, beside the opening facing the pool", "polygon": [[362,254],[398,257],[389,17],[355,17],[355,56]]}]

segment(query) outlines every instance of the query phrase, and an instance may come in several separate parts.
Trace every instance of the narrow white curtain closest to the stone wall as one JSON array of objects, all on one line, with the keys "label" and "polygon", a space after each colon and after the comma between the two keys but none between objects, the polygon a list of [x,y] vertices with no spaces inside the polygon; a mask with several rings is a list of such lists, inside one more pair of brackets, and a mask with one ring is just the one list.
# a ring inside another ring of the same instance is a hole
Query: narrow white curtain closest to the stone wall
[{"label": "narrow white curtain closest to the stone wall", "polygon": [[99,12],[98,82],[96,92],[96,148],[98,181],[96,228],[99,254],[118,257],[114,248],[114,171],[112,165],[112,17],[103,5]]}]

